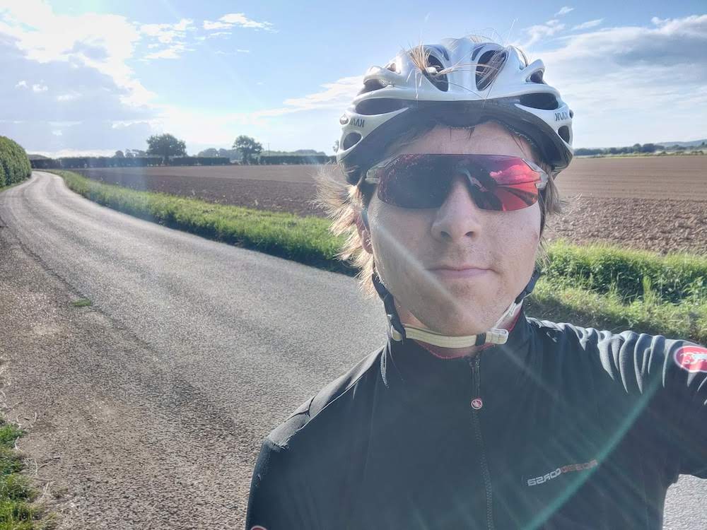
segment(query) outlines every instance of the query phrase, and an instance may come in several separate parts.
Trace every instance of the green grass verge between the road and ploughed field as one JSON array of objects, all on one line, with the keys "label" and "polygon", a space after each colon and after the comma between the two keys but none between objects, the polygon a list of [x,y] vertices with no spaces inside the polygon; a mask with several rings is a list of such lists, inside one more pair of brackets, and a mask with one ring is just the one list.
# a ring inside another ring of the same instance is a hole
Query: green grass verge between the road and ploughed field
[{"label": "green grass verge between the road and ploughed field", "polygon": [[[138,192],[68,171],[52,171],[88,199],[218,241],[353,274],[335,256],[343,240],[329,221]],[[707,255],[554,242],[529,314],[580,326],[636,329],[707,343]]]}]

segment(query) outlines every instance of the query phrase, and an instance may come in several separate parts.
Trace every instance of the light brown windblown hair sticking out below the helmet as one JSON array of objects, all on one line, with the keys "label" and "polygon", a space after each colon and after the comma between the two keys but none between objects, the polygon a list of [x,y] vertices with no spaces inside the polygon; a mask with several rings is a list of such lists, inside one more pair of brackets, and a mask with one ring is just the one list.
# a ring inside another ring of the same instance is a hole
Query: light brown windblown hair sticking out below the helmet
[{"label": "light brown windblown hair sticking out below the helmet", "polygon": [[[388,146],[385,156],[395,153],[402,146],[423,136],[433,129],[435,125],[426,125],[421,129],[408,131],[403,136],[397,137]],[[471,137],[474,128],[467,127],[466,129],[469,130],[469,137]],[[525,152],[526,149],[520,139],[515,134],[513,137],[518,146]],[[548,175],[552,175],[551,167],[539,158],[534,147],[530,143],[526,143],[526,145],[529,145],[532,151],[532,153],[529,153],[529,158],[532,158]],[[361,238],[358,235],[357,225],[362,222],[361,210],[368,208],[368,203],[375,191],[375,184],[364,182],[359,182],[358,185],[347,184],[341,167],[334,163],[322,165],[317,174],[313,176],[317,183],[317,194],[313,203],[324,208],[327,216],[332,220],[329,230],[334,235],[346,237],[337,257],[341,260],[349,261],[358,269],[356,278],[358,278],[359,286],[367,298],[371,297],[375,295],[375,288],[371,279],[374,269],[373,255],[366,252],[366,249],[363,248]],[[561,199],[553,178],[549,179],[547,186],[540,194],[539,204],[540,245],[538,259],[544,260],[547,259],[543,237],[545,220],[548,215],[561,212]]]}]

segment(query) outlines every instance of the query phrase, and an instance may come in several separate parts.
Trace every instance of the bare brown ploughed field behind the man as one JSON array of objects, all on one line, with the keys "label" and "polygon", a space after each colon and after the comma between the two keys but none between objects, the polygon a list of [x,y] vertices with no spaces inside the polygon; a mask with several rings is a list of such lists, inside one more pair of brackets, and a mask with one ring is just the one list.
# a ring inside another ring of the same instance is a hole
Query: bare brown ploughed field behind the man
[{"label": "bare brown ploughed field behind the man", "polygon": [[[81,170],[93,179],[220,204],[323,216],[313,165]],[[578,158],[557,180],[567,200],[549,239],[707,253],[707,156]]]}]

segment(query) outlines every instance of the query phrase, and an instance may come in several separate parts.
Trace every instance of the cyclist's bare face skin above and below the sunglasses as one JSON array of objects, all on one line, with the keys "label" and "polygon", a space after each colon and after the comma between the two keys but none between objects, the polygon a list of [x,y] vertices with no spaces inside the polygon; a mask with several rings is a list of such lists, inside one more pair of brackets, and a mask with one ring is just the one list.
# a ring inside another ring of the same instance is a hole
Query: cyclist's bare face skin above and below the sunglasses
[{"label": "cyclist's bare face skin above and below the sunglasses", "polygon": [[[470,138],[467,130],[437,126],[391,154],[404,153],[532,156],[525,141],[493,122],[476,126]],[[399,208],[374,193],[368,220],[370,230],[359,233],[402,322],[452,336],[481,333],[496,323],[530,280],[540,237],[539,204],[481,210],[462,177],[439,208]],[[440,266],[475,270],[455,273]]]}]

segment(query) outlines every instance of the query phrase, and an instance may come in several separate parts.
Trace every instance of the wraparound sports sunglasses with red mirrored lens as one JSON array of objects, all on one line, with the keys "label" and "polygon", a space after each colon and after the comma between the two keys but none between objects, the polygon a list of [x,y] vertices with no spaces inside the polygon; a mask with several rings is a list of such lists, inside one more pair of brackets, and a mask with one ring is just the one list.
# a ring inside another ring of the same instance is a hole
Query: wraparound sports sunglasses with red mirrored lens
[{"label": "wraparound sports sunglasses with red mirrored lens", "polygon": [[467,182],[482,210],[532,206],[549,179],[536,164],[503,155],[395,155],[371,167],[363,182],[378,184],[378,199],[400,208],[439,208],[455,177]]}]

